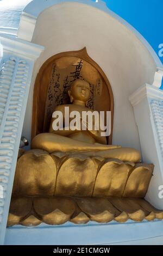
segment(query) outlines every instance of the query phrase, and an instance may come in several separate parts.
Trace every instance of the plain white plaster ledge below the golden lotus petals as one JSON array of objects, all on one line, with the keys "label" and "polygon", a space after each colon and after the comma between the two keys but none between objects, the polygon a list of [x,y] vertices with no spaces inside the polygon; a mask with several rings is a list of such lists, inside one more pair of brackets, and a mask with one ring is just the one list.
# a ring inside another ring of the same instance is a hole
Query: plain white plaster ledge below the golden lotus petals
[{"label": "plain white plaster ledge below the golden lotus petals", "polygon": [[163,245],[163,221],[8,228],[5,245]]}]

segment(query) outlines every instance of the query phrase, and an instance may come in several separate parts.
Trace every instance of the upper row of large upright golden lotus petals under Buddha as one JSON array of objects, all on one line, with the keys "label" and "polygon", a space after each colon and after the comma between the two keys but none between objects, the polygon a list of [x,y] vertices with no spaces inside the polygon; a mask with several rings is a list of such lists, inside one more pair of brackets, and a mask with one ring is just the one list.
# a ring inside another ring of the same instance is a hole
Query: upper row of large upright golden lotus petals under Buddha
[{"label": "upper row of large upright golden lotus petals under Buddha", "polygon": [[146,196],[153,164],[29,150],[17,161],[16,196]]}]

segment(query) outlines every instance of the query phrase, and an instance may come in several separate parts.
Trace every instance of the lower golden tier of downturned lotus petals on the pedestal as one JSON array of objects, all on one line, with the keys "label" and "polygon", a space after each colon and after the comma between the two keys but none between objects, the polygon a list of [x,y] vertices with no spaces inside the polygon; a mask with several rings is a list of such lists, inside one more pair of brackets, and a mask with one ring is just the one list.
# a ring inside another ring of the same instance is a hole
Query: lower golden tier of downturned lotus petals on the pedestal
[{"label": "lower golden tier of downturned lotus petals on the pedestal", "polygon": [[163,210],[155,209],[141,198],[19,196],[11,199],[8,226],[21,224],[33,227],[42,222],[59,225],[67,221],[75,224],[89,221],[108,223],[112,220],[126,222],[128,219],[141,222],[155,218],[162,220]]}]

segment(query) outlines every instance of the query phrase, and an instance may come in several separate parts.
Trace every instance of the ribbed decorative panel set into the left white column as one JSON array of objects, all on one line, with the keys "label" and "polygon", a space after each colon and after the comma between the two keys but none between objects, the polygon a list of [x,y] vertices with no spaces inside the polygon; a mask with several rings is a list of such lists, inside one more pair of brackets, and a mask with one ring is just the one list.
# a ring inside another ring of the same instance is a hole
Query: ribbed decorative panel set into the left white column
[{"label": "ribbed decorative panel set into the left white column", "polygon": [[[8,196],[8,187],[12,184],[11,168],[12,160],[17,154],[18,127],[20,125],[23,97],[26,88],[29,66],[25,60],[18,57],[10,57],[3,64],[0,75],[1,82],[1,130],[0,130],[0,186],[3,188],[3,198],[0,198],[0,229],[3,223],[5,200]],[[14,154],[16,153],[16,154]],[[11,182],[9,180],[11,179]],[[7,206],[9,207],[9,205]]]}]

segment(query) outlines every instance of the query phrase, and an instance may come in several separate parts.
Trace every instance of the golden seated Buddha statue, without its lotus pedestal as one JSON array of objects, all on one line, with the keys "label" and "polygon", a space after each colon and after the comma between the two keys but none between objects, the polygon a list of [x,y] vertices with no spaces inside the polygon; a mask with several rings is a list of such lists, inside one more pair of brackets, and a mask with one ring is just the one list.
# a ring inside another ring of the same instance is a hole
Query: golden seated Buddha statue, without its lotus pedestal
[{"label": "golden seated Buddha statue, without its lotus pedestal", "polygon": [[[68,90],[68,95],[72,104],[60,105],[55,108],[55,111],[62,112],[65,115],[65,107],[72,111],[78,111],[82,114],[83,111],[92,111],[86,107],[86,103],[90,97],[90,85],[85,80],[76,80],[73,82],[71,89]],[[92,111],[93,112],[93,111]],[[82,115],[80,115],[82,116]],[[95,157],[101,156],[104,159],[119,159],[121,161],[140,162],[139,151],[131,148],[122,148],[118,145],[107,145],[106,137],[101,136],[101,130],[71,130],[65,127],[54,130],[52,118],[48,133],[40,133],[35,136],[31,148],[42,149],[48,153],[82,153],[86,156]],[[82,121],[82,120],[81,120]]]}]

